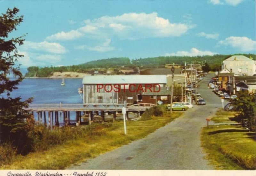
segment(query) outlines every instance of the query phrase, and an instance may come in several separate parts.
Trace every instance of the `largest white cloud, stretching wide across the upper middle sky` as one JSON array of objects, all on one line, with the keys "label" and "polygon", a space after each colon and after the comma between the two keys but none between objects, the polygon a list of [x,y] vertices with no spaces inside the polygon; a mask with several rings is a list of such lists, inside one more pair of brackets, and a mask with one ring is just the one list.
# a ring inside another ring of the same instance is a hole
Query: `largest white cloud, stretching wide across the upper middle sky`
[{"label": "largest white cloud, stretching wide across the upper middle sky", "polygon": [[[191,18],[191,16],[189,17]],[[181,36],[192,24],[171,23],[169,19],[158,17],[153,13],[124,13],[120,16],[103,16],[93,20],[85,20],[85,26],[69,32],[59,32],[46,39],[72,40],[82,36],[102,39],[117,36],[120,39],[162,38]]]}]

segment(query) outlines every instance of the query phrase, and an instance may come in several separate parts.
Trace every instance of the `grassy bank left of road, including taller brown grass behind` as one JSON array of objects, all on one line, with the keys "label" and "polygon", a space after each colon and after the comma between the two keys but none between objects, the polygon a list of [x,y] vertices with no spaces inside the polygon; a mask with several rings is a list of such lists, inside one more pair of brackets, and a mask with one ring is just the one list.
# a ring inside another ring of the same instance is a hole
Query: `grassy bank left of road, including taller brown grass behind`
[{"label": "grassy bank left of road, including taller brown grass behind", "polygon": [[181,114],[175,112],[170,116],[163,111],[163,116],[152,116],[146,121],[127,121],[127,135],[124,135],[123,121],[53,130],[39,126],[29,134],[34,139],[34,152],[18,155],[9,164],[2,163],[0,169],[64,169],[145,137]]}]

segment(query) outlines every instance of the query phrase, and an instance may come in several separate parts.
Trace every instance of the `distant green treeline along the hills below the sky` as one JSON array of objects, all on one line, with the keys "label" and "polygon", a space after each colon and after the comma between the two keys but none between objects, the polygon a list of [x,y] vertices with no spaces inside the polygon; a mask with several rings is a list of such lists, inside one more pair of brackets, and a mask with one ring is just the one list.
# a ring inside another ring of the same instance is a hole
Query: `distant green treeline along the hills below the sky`
[{"label": "distant green treeline along the hills below the sky", "polygon": [[[252,58],[256,60],[255,54],[233,54],[233,55],[244,55],[248,58]],[[214,56],[159,56],[154,58],[140,58],[135,60],[130,60],[126,57],[121,58],[109,58],[109,59],[101,59],[86,62],[84,64],[72,65],[72,66],[61,66],[61,67],[28,67],[28,73],[25,74],[26,77],[48,77],[53,72],[79,72],[79,73],[90,73],[96,69],[99,73],[106,73],[108,68],[116,68],[114,70],[118,71],[118,68],[129,67],[131,69],[136,69],[136,67],[140,68],[162,68],[165,64],[180,64],[184,65],[184,62],[188,64],[191,62],[201,62],[207,63],[210,67],[211,71],[219,71],[221,69],[221,63],[223,60],[231,57],[232,55],[220,55],[216,54]]]}]

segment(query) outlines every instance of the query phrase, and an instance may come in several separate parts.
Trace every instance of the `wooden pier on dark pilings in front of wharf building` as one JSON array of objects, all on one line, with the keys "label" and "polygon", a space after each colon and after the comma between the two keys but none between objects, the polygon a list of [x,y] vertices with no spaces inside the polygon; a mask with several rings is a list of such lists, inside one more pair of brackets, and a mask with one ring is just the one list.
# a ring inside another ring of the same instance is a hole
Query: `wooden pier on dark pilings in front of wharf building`
[{"label": "wooden pier on dark pilings in front of wharf building", "polygon": [[[126,118],[129,120],[128,112],[137,112],[140,116],[141,112],[149,109],[155,104],[150,103],[140,103],[134,104],[126,107]],[[113,121],[116,120],[116,112],[122,111],[124,104],[31,104],[27,110],[31,111],[33,116],[34,112],[37,114],[37,121],[43,123],[48,127],[59,126],[60,119],[63,115],[63,124],[65,126],[70,125],[71,123],[76,123],[77,125],[82,124],[82,113],[89,116],[89,123],[93,122],[93,112],[101,116],[101,122],[105,122],[105,113],[113,113]],[[70,112],[75,112],[76,119],[71,120]],[[48,116],[46,116],[46,112]],[[48,118],[48,120],[47,120]],[[47,124],[48,123],[48,124]],[[53,124],[54,123],[54,124]]]}]

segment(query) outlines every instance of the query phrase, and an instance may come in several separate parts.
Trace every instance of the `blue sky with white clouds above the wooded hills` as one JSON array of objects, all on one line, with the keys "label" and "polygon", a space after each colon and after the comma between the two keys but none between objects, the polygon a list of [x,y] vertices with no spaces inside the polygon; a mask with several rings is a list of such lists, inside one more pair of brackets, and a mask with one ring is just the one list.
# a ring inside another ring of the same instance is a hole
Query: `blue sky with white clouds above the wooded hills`
[{"label": "blue sky with white clouds above the wooded hills", "polygon": [[22,67],[112,57],[256,53],[255,0],[0,1],[26,34]]}]

